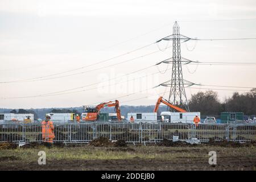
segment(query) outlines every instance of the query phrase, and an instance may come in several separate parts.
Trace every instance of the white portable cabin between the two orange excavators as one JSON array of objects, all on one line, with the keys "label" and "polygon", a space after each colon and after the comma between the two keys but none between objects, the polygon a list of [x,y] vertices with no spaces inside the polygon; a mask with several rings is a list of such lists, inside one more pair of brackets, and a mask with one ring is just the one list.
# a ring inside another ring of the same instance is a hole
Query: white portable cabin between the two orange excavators
[{"label": "white portable cabin between the two orange excavators", "polygon": [[127,113],[127,121],[130,121],[131,116],[134,118],[134,123],[139,122],[157,122],[157,113]]}]

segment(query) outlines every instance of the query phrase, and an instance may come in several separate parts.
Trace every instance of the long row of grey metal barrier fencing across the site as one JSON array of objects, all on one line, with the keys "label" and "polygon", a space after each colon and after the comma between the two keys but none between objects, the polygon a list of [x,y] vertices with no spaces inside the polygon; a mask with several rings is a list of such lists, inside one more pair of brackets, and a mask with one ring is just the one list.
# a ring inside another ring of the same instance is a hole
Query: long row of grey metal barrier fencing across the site
[{"label": "long row of grey metal barrier fencing across the site", "polygon": [[[95,138],[130,143],[160,142],[163,139],[209,142],[210,139],[248,142],[256,140],[256,124],[189,123],[53,123],[53,142],[87,143]],[[43,142],[40,123],[0,123],[0,142]]]}]

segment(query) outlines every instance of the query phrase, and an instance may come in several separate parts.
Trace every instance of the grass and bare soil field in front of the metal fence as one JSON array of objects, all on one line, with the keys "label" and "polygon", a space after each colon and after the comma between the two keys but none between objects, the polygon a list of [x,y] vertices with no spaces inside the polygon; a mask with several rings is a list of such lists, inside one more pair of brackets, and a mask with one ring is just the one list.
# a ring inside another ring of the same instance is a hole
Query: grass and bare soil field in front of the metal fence
[{"label": "grass and bare soil field in front of the metal fence", "polygon": [[[98,143],[97,143],[98,144]],[[95,147],[0,144],[1,170],[256,170],[254,144],[162,143],[154,146],[114,144]],[[168,146],[168,147],[167,147]],[[9,149],[7,149],[9,148]],[[38,152],[46,152],[47,164],[38,164]],[[217,165],[208,163],[216,151]]]}]

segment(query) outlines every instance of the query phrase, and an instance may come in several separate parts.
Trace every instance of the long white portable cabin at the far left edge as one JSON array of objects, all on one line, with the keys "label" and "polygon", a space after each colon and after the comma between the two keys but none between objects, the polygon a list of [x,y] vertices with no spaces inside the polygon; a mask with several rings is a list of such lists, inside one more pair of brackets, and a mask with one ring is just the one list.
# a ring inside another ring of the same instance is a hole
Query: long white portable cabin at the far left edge
[{"label": "long white portable cabin at the far left edge", "polygon": [[10,122],[10,121],[28,121],[34,122],[34,114],[16,114],[16,113],[6,113],[0,114],[0,122]]}]

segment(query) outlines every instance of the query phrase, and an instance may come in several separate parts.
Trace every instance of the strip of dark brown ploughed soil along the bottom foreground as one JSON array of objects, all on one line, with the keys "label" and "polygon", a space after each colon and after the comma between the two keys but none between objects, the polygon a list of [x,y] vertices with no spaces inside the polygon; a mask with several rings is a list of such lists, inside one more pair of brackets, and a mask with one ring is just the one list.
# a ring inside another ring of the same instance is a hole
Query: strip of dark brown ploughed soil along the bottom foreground
[{"label": "strip of dark brown ploughed soil along the bottom foreground", "polygon": [[[11,162],[8,165],[6,162]],[[5,164],[5,165],[3,165]],[[255,170],[256,159],[246,157],[218,158],[217,165],[209,165],[201,158],[111,159],[111,160],[47,160],[24,164],[19,158],[0,158],[0,170]]]}]

